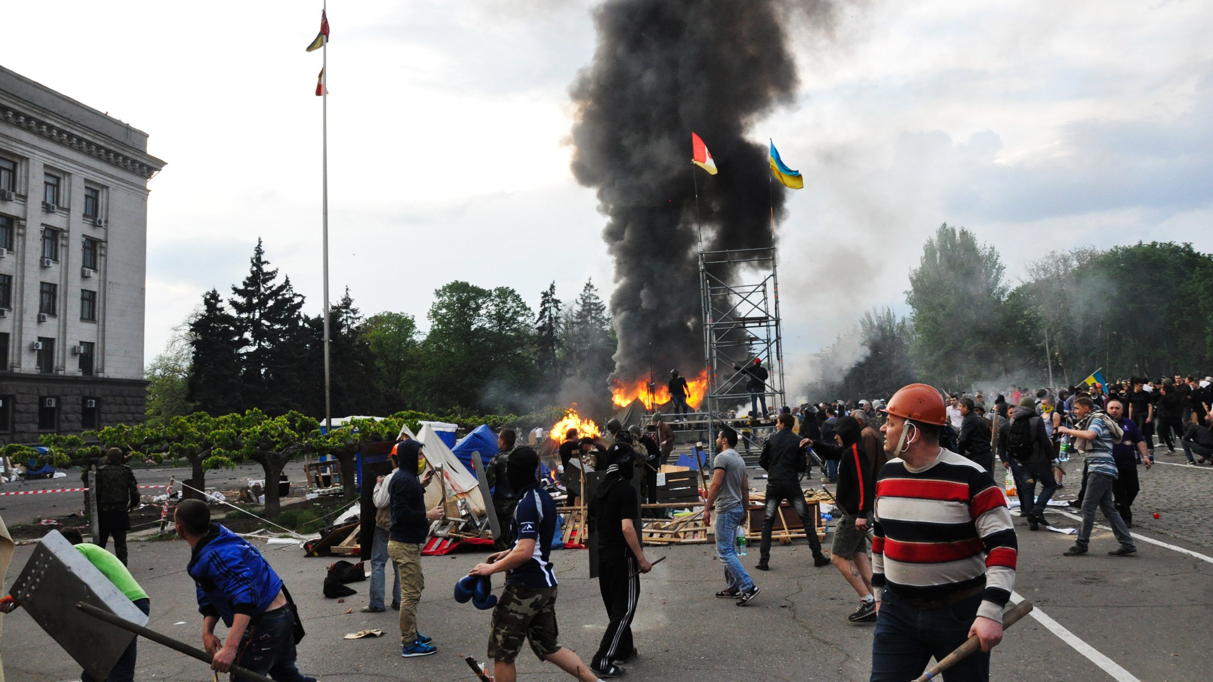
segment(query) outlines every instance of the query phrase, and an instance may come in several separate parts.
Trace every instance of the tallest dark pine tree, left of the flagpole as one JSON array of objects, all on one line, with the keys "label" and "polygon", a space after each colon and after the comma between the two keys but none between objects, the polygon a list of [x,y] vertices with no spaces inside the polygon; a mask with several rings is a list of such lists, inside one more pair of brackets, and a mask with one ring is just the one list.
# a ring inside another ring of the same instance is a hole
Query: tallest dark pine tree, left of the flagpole
[{"label": "tallest dark pine tree, left of the flagpole", "polygon": [[232,286],[228,300],[235,311],[240,351],[244,400],[266,414],[284,414],[298,403],[304,391],[315,391],[304,381],[309,333],[301,316],[303,296],[295,292],[291,279],[278,283],[278,269],[270,269],[266,251],[257,246],[249,260],[249,277]]}]

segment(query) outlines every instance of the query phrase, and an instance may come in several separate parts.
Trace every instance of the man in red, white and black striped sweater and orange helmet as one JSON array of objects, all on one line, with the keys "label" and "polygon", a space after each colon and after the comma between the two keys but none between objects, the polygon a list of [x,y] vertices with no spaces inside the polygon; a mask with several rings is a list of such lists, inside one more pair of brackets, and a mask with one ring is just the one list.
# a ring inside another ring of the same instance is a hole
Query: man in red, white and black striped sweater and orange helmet
[{"label": "man in red, white and black striped sweater and orange helmet", "polygon": [[972,635],[981,650],[947,671],[987,681],[1015,584],[1016,542],[1002,490],[981,465],[939,445],[938,391],[912,383],[885,411],[888,464],[876,481],[872,682],[912,680]]}]

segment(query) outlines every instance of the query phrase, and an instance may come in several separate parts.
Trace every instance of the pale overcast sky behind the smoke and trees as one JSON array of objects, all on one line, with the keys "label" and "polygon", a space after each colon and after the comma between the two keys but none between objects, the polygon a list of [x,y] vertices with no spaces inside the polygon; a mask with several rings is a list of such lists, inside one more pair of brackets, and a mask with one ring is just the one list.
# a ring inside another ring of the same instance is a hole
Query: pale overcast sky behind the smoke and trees
[{"label": "pale overcast sky behind the smoke and trees", "polygon": [[[5,5],[29,29],[5,33],[0,63],[147,131],[167,161],[149,183],[148,360],[244,277],[257,237],[319,312],[321,56],[303,51],[319,2]],[[1054,249],[1213,251],[1208,2],[855,5],[830,41],[797,30],[799,95],[751,131],[805,177],[780,227],[793,374],[864,309],[905,309],[945,221],[996,243],[1012,280]],[[349,286],[363,313],[425,324],[454,279],[534,306],[593,277],[606,297],[603,218],[566,144],[592,6],[330,4],[334,300]]]}]

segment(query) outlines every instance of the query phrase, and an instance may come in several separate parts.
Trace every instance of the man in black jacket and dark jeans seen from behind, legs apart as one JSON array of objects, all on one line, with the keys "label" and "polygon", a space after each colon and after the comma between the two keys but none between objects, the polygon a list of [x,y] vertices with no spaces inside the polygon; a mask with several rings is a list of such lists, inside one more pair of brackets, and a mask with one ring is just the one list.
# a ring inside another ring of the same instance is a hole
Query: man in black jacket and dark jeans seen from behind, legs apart
[{"label": "man in black jacket and dark jeans seen from behind, legs apart", "polygon": [[[801,476],[804,474],[808,439],[802,439],[792,426],[796,420],[790,414],[779,415],[775,433],[762,448],[759,466],[767,470],[767,513],[762,522],[762,547],[758,556],[758,570],[770,570],[770,533],[779,518],[779,508],[784,500],[792,504],[804,534],[813,550],[813,566],[827,566],[830,559],[821,553],[821,541],[818,540],[816,519],[809,517],[809,506],[804,504],[804,490],[801,489]],[[825,433],[822,433],[825,437]]]}]

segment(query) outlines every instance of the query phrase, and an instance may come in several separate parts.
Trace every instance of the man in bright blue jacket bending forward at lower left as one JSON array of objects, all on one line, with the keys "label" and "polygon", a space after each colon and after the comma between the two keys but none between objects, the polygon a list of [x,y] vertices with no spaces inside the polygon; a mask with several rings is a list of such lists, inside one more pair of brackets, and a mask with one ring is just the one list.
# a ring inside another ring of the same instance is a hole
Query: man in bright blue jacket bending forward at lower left
[{"label": "man in bright blue jacket bending forward at lower left", "polygon": [[[193,547],[186,570],[198,587],[203,646],[213,657],[211,667],[227,672],[234,663],[279,682],[315,682],[295,667],[295,614],[281,579],[261,552],[211,523],[211,510],[201,500],[177,505],[173,522],[177,535]],[[220,619],[228,627],[227,642],[215,636]]]}]

